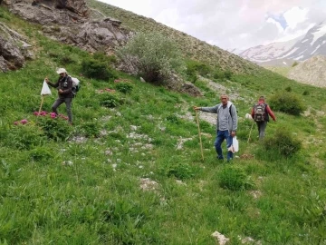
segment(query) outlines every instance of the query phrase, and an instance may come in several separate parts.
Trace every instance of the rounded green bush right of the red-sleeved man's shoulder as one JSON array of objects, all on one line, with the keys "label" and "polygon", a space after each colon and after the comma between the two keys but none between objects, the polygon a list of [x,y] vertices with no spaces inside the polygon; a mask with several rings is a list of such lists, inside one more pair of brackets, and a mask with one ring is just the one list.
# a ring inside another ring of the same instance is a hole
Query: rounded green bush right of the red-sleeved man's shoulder
[{"label": "rounded green bush right of the red-sleeved man's shoulder", "polygon": [[300,115],[305,110],[302,100],[294,93],[280,92],[274,94],[270,99],[270,105],[275,111]]}]

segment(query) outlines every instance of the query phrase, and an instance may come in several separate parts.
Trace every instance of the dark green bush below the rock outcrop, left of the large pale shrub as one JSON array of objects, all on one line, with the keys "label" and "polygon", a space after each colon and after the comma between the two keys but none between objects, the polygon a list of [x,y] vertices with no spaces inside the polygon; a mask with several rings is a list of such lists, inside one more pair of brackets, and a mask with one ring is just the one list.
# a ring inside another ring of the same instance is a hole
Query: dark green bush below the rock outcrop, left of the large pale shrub
[{"label": "dark green bush below the rock outcrop, left of the large pale shrub", "polygon": [[82,61],[82,73],[89,77],[101,80],[109,80],[116,78],[116,74],[110,65],[100,60],[86,59]]}]

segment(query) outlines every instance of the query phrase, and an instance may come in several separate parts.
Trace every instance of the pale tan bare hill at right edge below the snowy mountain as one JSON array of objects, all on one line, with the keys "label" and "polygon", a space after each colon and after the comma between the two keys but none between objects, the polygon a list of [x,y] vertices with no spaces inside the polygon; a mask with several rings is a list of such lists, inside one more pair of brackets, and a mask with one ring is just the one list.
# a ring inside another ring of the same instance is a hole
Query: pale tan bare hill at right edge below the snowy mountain
[{"label": "pale tan bare hill at right edge below the snowy mountain", "polygon": [[294,66],[288,73],[290,79],[317,87],[326,87],[326,57],[314,56]]}]

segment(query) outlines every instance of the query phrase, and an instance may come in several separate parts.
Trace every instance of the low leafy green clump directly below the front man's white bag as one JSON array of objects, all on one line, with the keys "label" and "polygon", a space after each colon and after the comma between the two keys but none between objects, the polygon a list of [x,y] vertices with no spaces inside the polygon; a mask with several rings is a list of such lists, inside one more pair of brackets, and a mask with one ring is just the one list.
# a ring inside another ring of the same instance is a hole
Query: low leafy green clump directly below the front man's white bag
[{"label": "low leafy green clump directly below the front man's white bag", "polygon": [[227,166],[218,173],[219,186],[231,191],[248,190],[254,186],[245,171],[234,166]]}]

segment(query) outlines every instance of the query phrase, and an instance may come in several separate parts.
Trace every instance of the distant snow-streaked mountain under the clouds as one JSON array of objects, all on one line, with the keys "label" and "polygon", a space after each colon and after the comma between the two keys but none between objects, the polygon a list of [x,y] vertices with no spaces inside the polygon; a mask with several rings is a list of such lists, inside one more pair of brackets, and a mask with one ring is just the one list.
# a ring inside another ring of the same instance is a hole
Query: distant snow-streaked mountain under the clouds
[{"label": "distant snow-streaked mountain under the clouds", "polygon": [[256,64],[288,66],[320,54],[326,55],[326,21],[290,41],[254,46],[238,55]]}]

